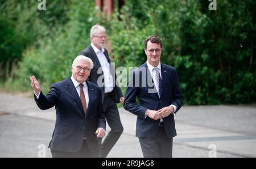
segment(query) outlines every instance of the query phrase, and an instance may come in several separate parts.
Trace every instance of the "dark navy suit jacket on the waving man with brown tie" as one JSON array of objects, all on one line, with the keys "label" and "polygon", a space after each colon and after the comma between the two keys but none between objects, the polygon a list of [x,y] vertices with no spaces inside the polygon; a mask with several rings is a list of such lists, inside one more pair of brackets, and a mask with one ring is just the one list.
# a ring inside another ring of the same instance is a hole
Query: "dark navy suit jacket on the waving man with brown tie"
[{"label": "dark navy suit jacket on the waving man with brown tie", "polygon": [[106,129],[106,120],[102,111],[101,90],[95,84],[88,85],[89,104],[85,116],[82,103],[71,78],[52,84],[46,96],[40,92],[36,104],[40,109],[55,106],[56,124],[49,143],[51,150],[77,152],[81,149],[84,137],[92,152],[99,151],[97,128]]}]

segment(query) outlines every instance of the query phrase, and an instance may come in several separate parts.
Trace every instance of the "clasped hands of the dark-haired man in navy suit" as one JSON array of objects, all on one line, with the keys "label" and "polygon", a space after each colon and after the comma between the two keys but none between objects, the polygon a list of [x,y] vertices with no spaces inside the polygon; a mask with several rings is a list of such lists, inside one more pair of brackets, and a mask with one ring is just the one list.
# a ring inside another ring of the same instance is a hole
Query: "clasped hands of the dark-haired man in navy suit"
[{"label": "clasped hands of the dark-haired man in navy suit", "polygon": [[148,111],[147,116],[153,120],[159,120],[160,118],[169,116],[172,112],[174,112],[174,107],[168,106],[168,107],[163,107],[158,111],[150,110]]}]

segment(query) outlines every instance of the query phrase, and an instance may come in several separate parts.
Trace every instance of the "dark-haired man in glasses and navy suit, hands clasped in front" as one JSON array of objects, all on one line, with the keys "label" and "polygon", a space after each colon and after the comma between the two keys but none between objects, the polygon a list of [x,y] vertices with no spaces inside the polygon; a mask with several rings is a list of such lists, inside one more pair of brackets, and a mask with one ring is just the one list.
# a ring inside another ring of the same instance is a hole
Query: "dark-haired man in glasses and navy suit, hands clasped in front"
[{"label": "dark-haired man in glasses and navy suit, hands clasped in front", "polygon": [[136,136],[143,156],[172,157],[172,138],[176,136],[174,113],[182,105],[177,73],[174,67],[160,62],[160,37],[147,37],[144,52],[147,61],[131,72],[123,107],[138,116]]}]

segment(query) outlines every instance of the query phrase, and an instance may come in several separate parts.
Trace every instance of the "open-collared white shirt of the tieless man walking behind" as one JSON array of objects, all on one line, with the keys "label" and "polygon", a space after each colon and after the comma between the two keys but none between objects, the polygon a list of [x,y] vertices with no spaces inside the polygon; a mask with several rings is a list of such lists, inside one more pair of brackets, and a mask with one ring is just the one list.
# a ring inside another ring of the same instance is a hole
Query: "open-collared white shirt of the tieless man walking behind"
[{"label": "open-collared white shirt of the tieless man walking behind", "polygon": [[112,92],[113,91],[113,77],[110,74],[110,63],[108,62],[104,51],[105,49],[102,48],[99,50],[97,47],[95,47],[92,43],[90,44],[96,53],[98,60],[100,61],[103,75],[104,75],[104,87],[105,87],[105,93]]}]

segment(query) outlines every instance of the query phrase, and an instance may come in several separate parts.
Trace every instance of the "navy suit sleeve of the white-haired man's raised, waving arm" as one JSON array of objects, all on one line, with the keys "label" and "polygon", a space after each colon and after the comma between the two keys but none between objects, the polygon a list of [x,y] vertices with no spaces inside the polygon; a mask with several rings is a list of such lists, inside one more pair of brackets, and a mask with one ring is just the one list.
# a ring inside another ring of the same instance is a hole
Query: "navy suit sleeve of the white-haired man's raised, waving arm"
[{"label": "navy suit sleeve of the white-haired man's raised, waving arm", "polygon": [[36,96],[35,96],[35,102],[38,105],[38,107],[42,110],[46,110],[55,106],[58,99],[59,99],[59,90],[57,90],[57,87],[55,84],[51,86],[51,90],[48,92],[46,96],[44,96],[42,91],[40,92],[39,99],[36,99]]}]

